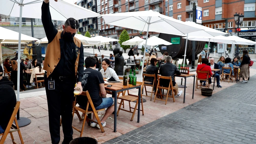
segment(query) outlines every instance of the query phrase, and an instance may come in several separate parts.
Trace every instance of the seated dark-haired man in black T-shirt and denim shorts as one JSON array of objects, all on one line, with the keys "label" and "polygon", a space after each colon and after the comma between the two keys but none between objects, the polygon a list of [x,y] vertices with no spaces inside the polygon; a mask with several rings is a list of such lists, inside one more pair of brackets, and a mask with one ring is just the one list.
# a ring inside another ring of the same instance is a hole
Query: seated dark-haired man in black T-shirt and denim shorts
[{"label": "seated dark-haired man in black T-shirt and denim shorts", "polygon": [[[106,97],[106,91],[104,88],[104,80],[102,77],[101,72],[95,70],[96,69],[96,58],[94,57],[87,57],[84,61],[86,69],[84,70],[83,73],[83,78],[82,78],[82,87],[83,91],[89,92],[92,103],[95,107],[96,110],[102,109],[102,108],[107,108],[105,115],[101,119],[101,124],[102,126],[106,126],[105,120],[114,112],[114,98],[112,97]],[[101,97],[100,93],[101,92]],[[83,109],[86,109],[87,106],[87,97],[83,95],[77,96],[77,102],[79,106]],[[96,120],[95,115],[93,115],[93,120]],[[91,121],[91,126],[95,127],[97,126],[100,128],[99,125],[96,123],[93,123]]]}]

